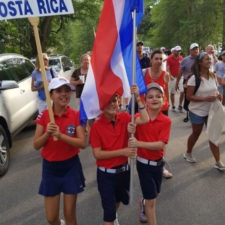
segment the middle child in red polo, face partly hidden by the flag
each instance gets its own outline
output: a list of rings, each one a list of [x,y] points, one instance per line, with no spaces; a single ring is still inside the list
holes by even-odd
[[[140,117],[135,123],[148,122],[148,114],[136,85],[132,86],[131,93],[134,93],[140,111]],[[136,155],[135,148],[128,148],[127,126],[131,116],[126,112],[118,113],[118,110],[119,96],[115,94],[100,118],[92,124],[90,132],[90,143],[98,167],[97,182],[104,210],[103,225],[114,225],[120,202],[129,202],[128,157]]]

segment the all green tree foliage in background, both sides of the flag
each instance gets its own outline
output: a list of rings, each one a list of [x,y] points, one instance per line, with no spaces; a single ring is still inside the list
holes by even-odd
[[[43,51],[62,53],[79,63],[92,49],[103,0],[73,0],[73,15],[40,18]],[[201,47],[223,42],[225,46],[225,0],[144,0],[145,16],[138,39],[152,48],[192,42]],[[36,56],[33,31],[27,19],[0,21],[0,52]],[[107,35],[107,34],[106,34]]]

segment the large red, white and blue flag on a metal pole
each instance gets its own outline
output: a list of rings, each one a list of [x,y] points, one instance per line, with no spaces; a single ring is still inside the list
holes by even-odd
[[[132,11],[137,26],[143,17],[143,0],[105,0],[96,32],[91,63],[81,95],[80,120],[96,118],[111,97],[121,89],[130,97],[132,84]],[[136,84],[146,91],[141,67],[136,59]]]

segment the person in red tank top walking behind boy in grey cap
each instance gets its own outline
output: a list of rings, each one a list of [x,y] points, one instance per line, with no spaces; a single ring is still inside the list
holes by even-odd
[[[168,116],[169,110],[169,74],[162,70],[162,51],[154,50],[151,54],[151,63],[152,67],[143,70],[144,79],[146,86],[150,83],[158,83],[163,87],[165,96],[164,96],[164,104],[161,108],[162,113]],[[163,169],[163,176],[165,178],[171,178],[173,176],[166,168]]]

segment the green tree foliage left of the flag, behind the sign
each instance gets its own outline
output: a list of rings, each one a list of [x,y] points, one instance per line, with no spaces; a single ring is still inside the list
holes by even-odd
[[[40,18],[43,52],[67,54],[75,60],[82,52],[91,49],[93,28],[99,18],[102,0],[73,0],[73,4],[73,15]],[[0,30],[0,52],[36,56],[33,30],[27,19],[0,21]]]

